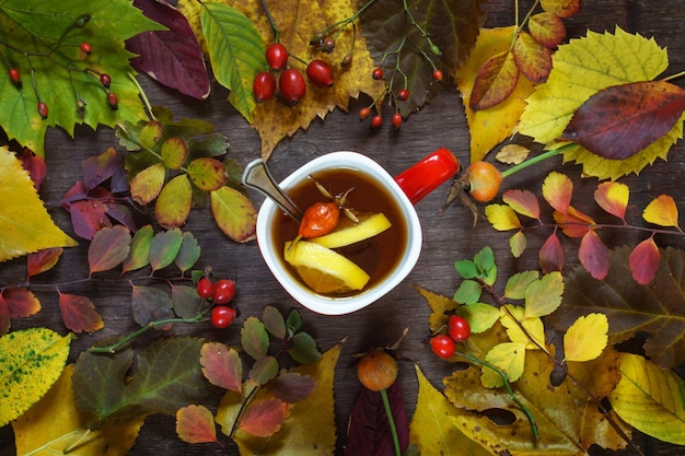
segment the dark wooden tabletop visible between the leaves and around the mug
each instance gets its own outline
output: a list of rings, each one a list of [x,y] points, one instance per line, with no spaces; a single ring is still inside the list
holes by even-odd
[[[531,1],[523,1],[522,10],[527,9]],[[618,25],[627,32],[654,37],[660,46],[669,50],[671,66],[667,73],[685,70],[685,1],[683,0],[599,0],[583,2],[580,14],[566,21],[571,37],[583,36],[588,30],[603,33],[614,32]],[[492,0],[486,7],[486,26],[507,26],[513,22],[512,0]],[[237,159],[241,164],[259,156],[259,139],[247,122],[228,104],[228,92],[214,84],[209,100],[197,102],[175,91],[164,89],[146,75],[139,78],[152,104],[163,104],[172,108],[176,118],[195,117],[212,122],[230,141],[229,155]],[[675,81],[683,86],[683,79]],[[274,175],[282,178],[304,162],[330,151],[352,150],[362,152],[380,162],[391,174],[396,175],[428,152],[437,148],[448,148],[462,161],[468,163],[468,130],[461,98],[451,83],[444,84],[444,91],[419,113],[411,115],[399,130],[394,130],[386,122],[379,130],[371,130],[368,122],[360,122],[357,112],[370,101],[362,97],[352,101],[349,114],[339,109],[329,114],[325,121],[312,122],[306,131],[299,131],[290,139],[283,140],[276,148],[270,165]],[[42,190],[44,201],[55,203],[81,177],[81,163],[88,156],[98,154],[108,147],[119,149],[114,132],[101,128],[96,132],[88,128],[78,128],[76,139],[70,139],[61,130],[48,132],[47,165],[48,175]],[[637,214],[646,201],[665,192],[676,198],[681,210],[685,210],[685,145],[678,142],[669,154],[667,162],[657,161],[646,168],[639,177],[629,176],[622,182],[630,186],[631,209]],[[506,188],[530,188],[537,190],[542,179],[550,169],[561,171],[571,176],[576,184],[574,200],[591,201],[596,179],[580,179],[580,167],[562,165],[560,159],[548,161],[534,169],[516,174],[508,179]],[[423,372],[440,386],[441,379],[449,372],[449,365],[431,355],[426,344],[428,336],[427,317],[429,308],[425,300],[413,289],[413,284],[437,293],[452,295],[457,277],[454,261],[472,258],[481,247],[489,245],[496,253],[500,267],[500,277],[515,271],[536,268],[535,247],[543,239],[532,237],[529,253],[524,258],[514,260],[508,252],[508,235],[496,233],[487,223],[479,223],[474,230],[472,214],[458,204],[439,212],[443,204],[448,186],[442,186],[417,204],[423,225],[423,248],[418,265],[409,277],[392,293],[373,305],[345,316],[324,316],[309,312],[299,306],[276,282],[259,256],[255,242],[236,244],[223,236],[217,229],[207,211],[194,211],[184,230],[190,231],[199,239],[202,247],[201,265],[211,265],[218,274],[233,278],[237,282],[235,300],[242,316],[237,324],[229,330],[212,329],[206,325],[178,326],[174,334],[191,334],[210,340],[235,343],[237,329],[242,320],[251,315],[260,315],[265,305],[275,305],[281,309],[299,308],[303,316],[305,329],[311,332],[318,347],[323,350],[347,338],[335,377],[335,411],[337,416],[338,448],[346,442],[345,431],[350,408],[357,398],[360,385],[355,373],[352,354],[370,348],[385,346],[396,340],[404,328],[409,328],[403,343],[403,355],[419,361]],[[256,204],[263,198],[251,192]],[[635,208],[634,206],[635,204]],[[51,215],[56,222],[71,233],[68,214],[54,208]],[[606,238],[611,246],[624,243],[636,243],[631,235]],[[673,246],[684,248],[681,239],[670,238]],[[567,257],[576,261],[578,243],[567,242]],[[69,249],[61,259],[61,265],[49,272],[45,280],[59,282],[88,276],[88,265],[83,260],[88,243]],[[570,269],[569,264],[566,271]],[[0,265],[0,283],[21,280],[23,261],[10,261]],[[130,312],[130,288],[126,283],[89,282],[73,290],[74,293],[88,294],[96,304],[104,318],[105,328],[93,335],[81,335],[72,342],[70,361],[86,349],[93,341],[109,335],[127,334],[136,329]],[[43,309],[31,318],[15,319],[13,329],[33,326],[47,326],[60,334],[61,324],[55,293],[38,292]],[[159,334],[137,340],[144,343]],[[400,364],[400,381],[405,393],[408,413],[416,402],[417,382],[413,363]],[[208,398],[208,404],[216,404],[216,397]],[[213,402],[212,402],[213,401]],[[642,445],[648,455],[683,454],[682,447],[663,444],[640,436],[636,442]],[[595,451],[596,449],[596,451]],[[593,448],[593,454],[609,454]],[[12,432],[10,426],[0,430],[0,456],[14,455]],[[184,444],[174,430],[173,417],[152,416],[147,419],[138,441],[130,455],[237,455],[235,447],[228,451],[216,445]],[[338,449],[337,454],[341,454]],[[614,454],[614,453],[611,453]],[[634,454],[625,451],[620,454]],[[432,456],[432,455],[427,455]]]

